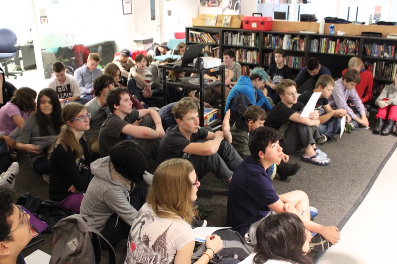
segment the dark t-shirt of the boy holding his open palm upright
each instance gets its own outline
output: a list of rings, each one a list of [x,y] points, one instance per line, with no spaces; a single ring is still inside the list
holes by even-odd
[[[188,159],[191,153],[183,152],[190,143],[198,142],[205,139],[208,135],[208,130],[200,127],[197,133],[190,136],[187,140],[184,135],[179,131],[179,126],[171,126],[160,141],[157,152],[157,164],[170,158],[184,158]]]

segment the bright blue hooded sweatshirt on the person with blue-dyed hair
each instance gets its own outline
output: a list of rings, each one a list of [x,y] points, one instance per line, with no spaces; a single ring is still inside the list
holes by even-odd
[[[254,86],[252,86],[250,77],[243,75],[238,79],[237,84],[233,86],[230,91],[226,99],[225,111],[229,109],[230,101],[232,101],[233,97],[239,94],[246,95],[253,105],[265,106],[268,111],[273,108],[270,106],[269,100],[262,94],[261,90],[256,90]]]

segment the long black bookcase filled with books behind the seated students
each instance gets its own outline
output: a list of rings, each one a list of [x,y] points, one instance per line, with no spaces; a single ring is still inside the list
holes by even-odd
[[[189,42],[189,34],[192,31],[219,35],[218,43],[204,44],[210,47],[216,45],[217,52],[214,53],[214,56],[218,58],[222,58],[222,53],[226,49],[234,50],[236,61],[241,64],[242,74],[245,75],[248,75],[254,67],[259,66],[267,69],[270,64],[274,63],[272,52],[275,48],[283,48],[286,51],[286,64],[292,69],[294,75],[305,66],[308,58],[317,57],[322,65],[330,69],[332,77],[340,78],[342,71],[347,68],[350,58],[358,56],[363,60],[367,69],[373,72],[374,95],[379,95],[384,85],[394,80],[394,74],[397,71],[397,42],[395,39],[186,27],[188,44],[193,44],[193,42]],[[239,55],[237,56],[237,54]]]

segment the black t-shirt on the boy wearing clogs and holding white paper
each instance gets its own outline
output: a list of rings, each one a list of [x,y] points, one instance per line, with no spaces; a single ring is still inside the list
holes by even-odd
[[[270,112],[267,112],[265,126],[278,130],[283,123],[289,120],[292,114],[302,111],[304,107],[305,105],[301,102],[296,102],[291,108],[279,102]]]

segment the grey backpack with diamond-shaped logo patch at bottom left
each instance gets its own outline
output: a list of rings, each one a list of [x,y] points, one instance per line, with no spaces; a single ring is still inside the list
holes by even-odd
[[[101,261],[101,241],[108,244],[109,263],[116,263],[116,254],[110,243],[93,226],[88,215],[73,214],[53,227],[50,264],[98,264]]]

